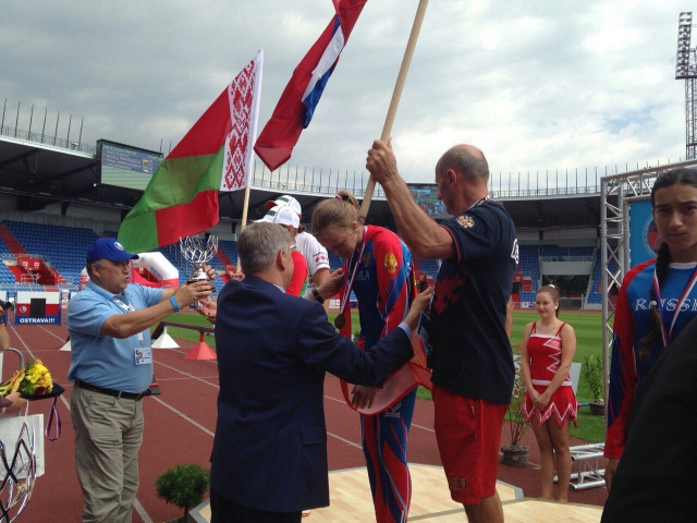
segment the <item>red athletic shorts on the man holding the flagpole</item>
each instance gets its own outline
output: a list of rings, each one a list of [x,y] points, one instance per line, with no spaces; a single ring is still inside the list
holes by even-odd
[[[508,404],[465,398],[433,386],[436,440],[450,496],[479,504],[497,489],[501,426]]]

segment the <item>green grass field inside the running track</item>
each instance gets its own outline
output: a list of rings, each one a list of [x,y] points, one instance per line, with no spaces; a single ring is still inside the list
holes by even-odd
[[[358,335],[358,313],[352,313],[352,325],[355,335]],[[329,320],[333,321],[335,314],[329,313]],[[511,342],[513,344],[519,343],[523,337],[523,328],[526,324],[539,319],[539,316],[535,312],[516,311],[513,316],[513,335]],[[583,363],[586,355],[595,355],[596,357],[602,356],[602,316],[599,312],[566,312],[563,311],[560,319],[570,324],[576,331],[576,354],[574,355],[575,362]],[[191,313],[175,313],[167,317],[168,321],[176,321],[181,324],[210,326],[210,324],[198,314]],[[170,328],[168,330],[170,336],[189,341],[198,341],[198,332],[188,329]],[[213,337],[206,337],[206,342],[216,346],[216,340]],[[430,399],[430,392],[426,389],[421,389],[418,392],[420,398]],[[583,377],[583,370],[580,381],[578,384],[578,390],[576,393],[578,403],[588,403],[592,401],[588,385]],[[584,439],[586,441],[599,442],[604,441],[604,418],[603,416],[594,416],[590,414],[588,406],[580,406],[578,409],[578,427],[571,427],[571,435],[575,438]]]

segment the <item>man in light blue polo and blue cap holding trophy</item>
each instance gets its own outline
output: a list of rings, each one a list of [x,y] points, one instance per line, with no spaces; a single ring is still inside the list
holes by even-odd
[[[206,281],[167,290],[129,284],[130,263],[137,257],[113,238],[97,240],[87,251],[90,281],[68,304],[83,522],[131,522],[144,428],[140,400],[152,378],[150,326],[211,293]]]

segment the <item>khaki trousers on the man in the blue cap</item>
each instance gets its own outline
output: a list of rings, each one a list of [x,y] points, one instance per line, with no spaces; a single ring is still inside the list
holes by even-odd
[[[75,469],[83,490],[83,522],[131,523],[138,490],[143,400],[117,399],[73,387]]]

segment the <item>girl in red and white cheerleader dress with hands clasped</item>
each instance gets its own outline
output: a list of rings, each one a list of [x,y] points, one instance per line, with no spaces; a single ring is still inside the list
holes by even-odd
[[[523,414],[531,422],[540,448],[542,499],[552,499],[554,467],[560,501],[566,501],[571,479],[568,428],[576,425],[578,403],[568,369],[576,352],[574,328],[559,319],[559,290],[545,285],[537,291],[539,321],[525,326],[521,342],[521,370],[527,388]]]

